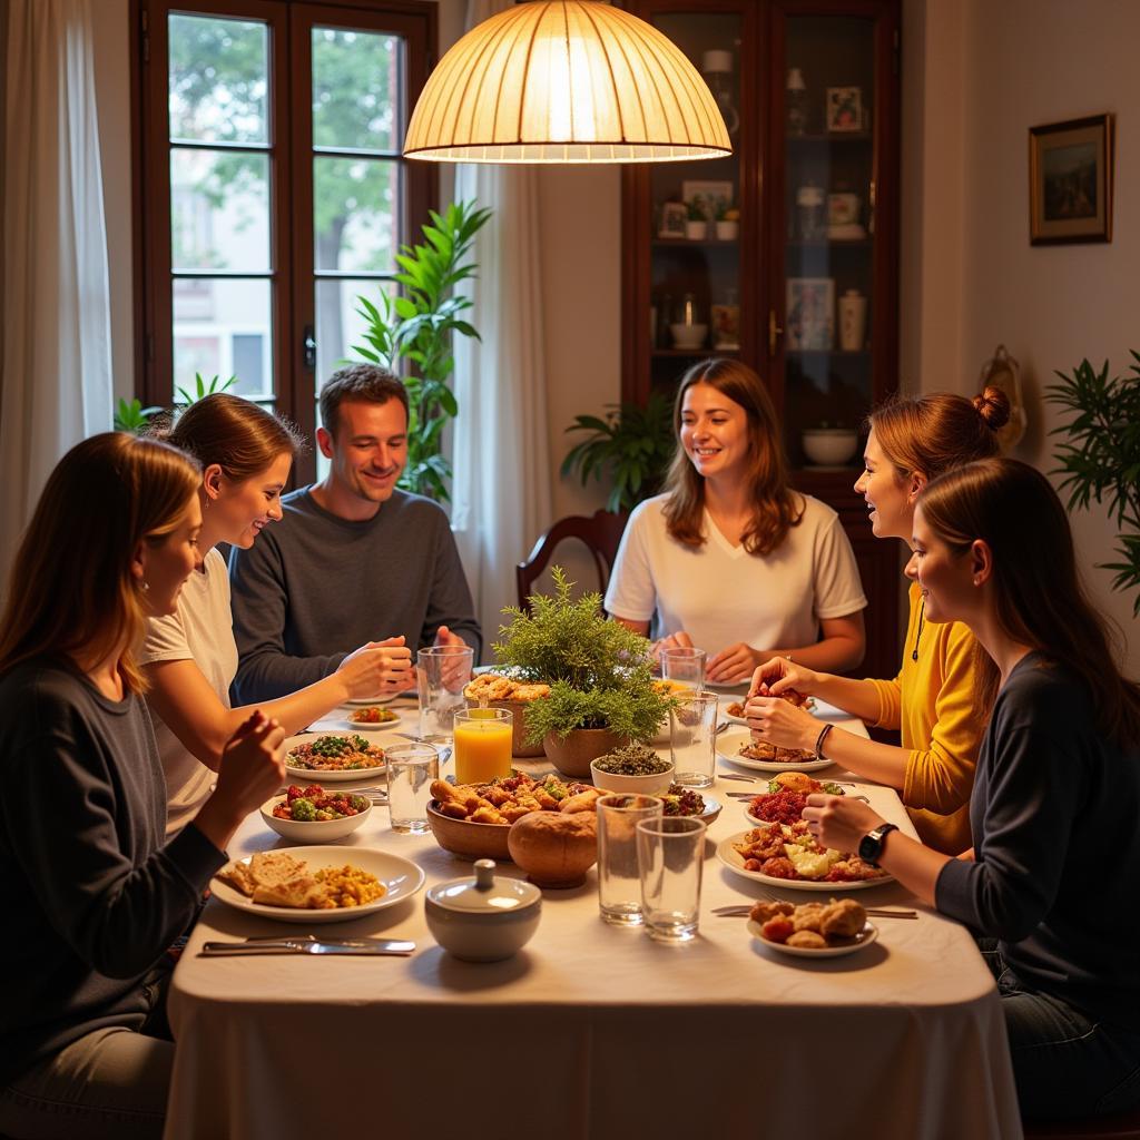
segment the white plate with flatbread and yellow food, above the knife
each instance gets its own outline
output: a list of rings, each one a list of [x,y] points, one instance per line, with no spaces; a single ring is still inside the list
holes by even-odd
[[[214,898],[278,922],[349,922],[415,895],[424,873],[373,847],[291,847],[226,864]]]

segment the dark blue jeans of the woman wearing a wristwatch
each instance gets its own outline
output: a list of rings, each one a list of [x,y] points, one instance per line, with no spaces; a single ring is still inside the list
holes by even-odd
[[[979,938],[978,948],[997,979],[1023,1116],[1102,1116],[1140,1105],[1140,1033],[1097,1023],[1027,988],[996,939]]]

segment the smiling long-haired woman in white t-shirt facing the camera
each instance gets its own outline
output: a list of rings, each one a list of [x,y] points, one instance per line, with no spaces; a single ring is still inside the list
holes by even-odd
[[[863,659],[866,597],[831,507],[792,490],[775,409],[736,360],[694,365],[674,412],[666,494],[629,519],[605,594],[622,625],[708,653],[707,678],[748,681],[771,657],[842,671]]]

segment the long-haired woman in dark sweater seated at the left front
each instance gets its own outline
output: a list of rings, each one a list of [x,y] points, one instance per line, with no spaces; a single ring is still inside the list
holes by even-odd
[[[95,435],[43,490],[0,622],[0,1132],[158,1137],[173,1047],[165,950],[237,824],[282,780],[254,714],[218,790],[164,841],[166,793],[133,659],[198,561],[197,465]]]

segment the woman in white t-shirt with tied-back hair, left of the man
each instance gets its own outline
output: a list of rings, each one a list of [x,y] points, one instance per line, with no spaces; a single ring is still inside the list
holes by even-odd
[[[192,404],[158,434],[202,464],[202,563],[174,613],[147,621],[139,654],[166,775],[166,830],[173,833],[209,797],[226,741],[252,711],[229,703],[237,645],[229,576],[214,546],[250,547],[282,516],[280,492],[301,445],[276,416],[227,393]],[[292,734],[350,698],[398,692],[412,677],[410,651],[402,637],[390,637],[350,653],[323,681],[256,707]]]

